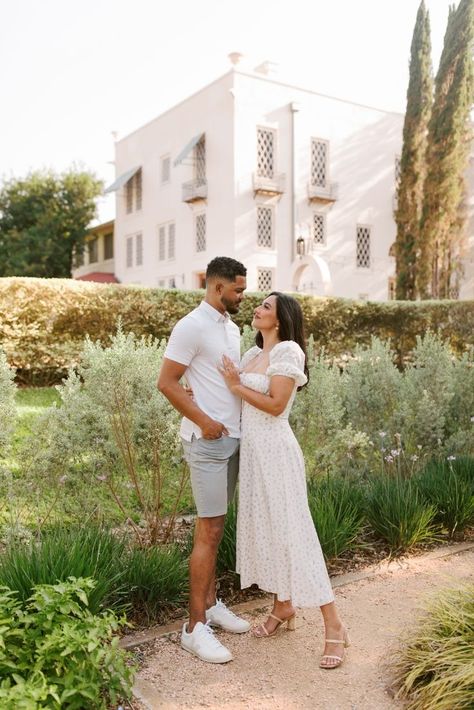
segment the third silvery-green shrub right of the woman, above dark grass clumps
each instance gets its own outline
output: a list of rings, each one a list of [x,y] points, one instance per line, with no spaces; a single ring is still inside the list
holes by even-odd
[[[455,358],[449,345],[432,333],[417,337],[413,362],[402,379],[398,431],[406,453],[418,444],[434,453],[446,436],[455,391]]]

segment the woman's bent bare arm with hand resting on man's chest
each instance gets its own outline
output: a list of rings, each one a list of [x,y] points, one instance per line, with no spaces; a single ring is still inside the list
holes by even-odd
[[[224,355],[222,360],[223,364],[218,369],[233,394],[241,397],[252,407],[256,407],[274,417],[278,417],[285,410],[295,386],[295,381],[292,377],[273,375],[270,378],[270,393],[261,394],[241,384],[239,371],[230,358]]]

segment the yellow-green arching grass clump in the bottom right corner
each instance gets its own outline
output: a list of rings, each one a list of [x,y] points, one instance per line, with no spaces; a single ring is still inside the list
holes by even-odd
[[[448,589],[403,639],[396,657],[399,697],[409,710],[472,708],[474,585]]]

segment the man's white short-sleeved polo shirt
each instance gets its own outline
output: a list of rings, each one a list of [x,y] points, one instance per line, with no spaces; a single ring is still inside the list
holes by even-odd
[[[181,318],[173,328],[164,357],[186,365],[186,379],[194,401],[208,416],[224,424],[229,436],[240,437],[240,398],[227,387],[217,365],[227,355],[238,366],[240,332],[226,313],[206,301]],[[183,417],[181,436],[191,441],[202,437],[201,429]]]

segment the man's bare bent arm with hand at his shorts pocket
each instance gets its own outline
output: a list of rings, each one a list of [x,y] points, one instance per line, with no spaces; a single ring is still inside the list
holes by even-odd
[[[158,389],[183,417],[197,424],[204,439],[219,439],[227,435],[229,432],[225,426],[203,412],[179,384],[186,369],[186,365],[165,357],[158,377]]]

